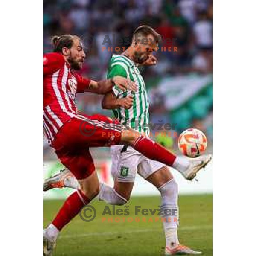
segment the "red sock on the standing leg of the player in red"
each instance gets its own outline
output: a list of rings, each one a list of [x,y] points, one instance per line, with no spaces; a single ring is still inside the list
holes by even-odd
[[[80,211],[80,209],[90,203],[90,199],[80,190],[70,195],[59,210],[52,224],[59,231],[67,225]]]

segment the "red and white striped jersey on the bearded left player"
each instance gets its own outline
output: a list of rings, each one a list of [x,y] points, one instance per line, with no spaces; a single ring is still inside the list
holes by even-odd
[[[76,93],[84,92],[90,79],[79,76],[59,53],[44,55],[44,132],[52,143],[65,122],[77,115]]]

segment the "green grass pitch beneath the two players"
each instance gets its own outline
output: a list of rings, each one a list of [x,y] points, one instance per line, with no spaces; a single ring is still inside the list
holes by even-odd
[[[55,217],[63,201],[44,201],[44,227]],[[102,212],[106,204],[93,201],[97,216],[91,222],[84,222],[79,216],[73,219],[61,232],[57,240],[54,256],[154,256],[164,255],[165,238],[161,221],[148,222],[152,216],[135,216],[134,207],[158,208],[160,197],[132,197],[129,204],[129,215],[112,216],[113,222],[102,221]],[[112,206],[110,206],[112,209]],[[116,209],[124,207],[116,207]],[[179,196],[180,225],[179,240],[192,249],[201,250],[203,255],[212,255],[212,195]],[[128,222],[128,217],[133,218]],[[135,222],[135,217],[140,222]],[[125,218],[123,222],[122,218]],[[131,220],[131,219],[130,219]]]

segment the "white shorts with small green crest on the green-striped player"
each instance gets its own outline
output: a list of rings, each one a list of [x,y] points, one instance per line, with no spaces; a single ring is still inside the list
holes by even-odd
[[[137,172],[146,179],[152,173],[166,166],[163,163],[148,159],[130,146],[121,153],[123,147],[123,145],[111,146],[111,173],[113,178],[120,182],[134,182]]]

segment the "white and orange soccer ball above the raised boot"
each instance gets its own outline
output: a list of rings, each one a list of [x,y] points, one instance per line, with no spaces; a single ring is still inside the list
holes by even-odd
[[[207,148],[207,137],[200,130],[189,128],[180,134],[178,148],[187,157],[198,157]]]

